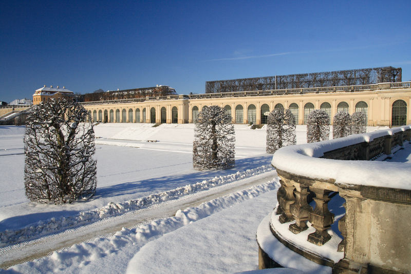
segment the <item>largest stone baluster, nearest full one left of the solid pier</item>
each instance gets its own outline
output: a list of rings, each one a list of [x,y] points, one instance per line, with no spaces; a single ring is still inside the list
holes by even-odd
[[[308,242],[323,245],[331,239],[327,229],[334,222],[334,214],[328,210],[328,202],[331,200],[328,197],[330,190],[310,187],[310,190],[315,193],[315,208],[309,213],[308,221],[315,228],[315,232],[308,235]]]

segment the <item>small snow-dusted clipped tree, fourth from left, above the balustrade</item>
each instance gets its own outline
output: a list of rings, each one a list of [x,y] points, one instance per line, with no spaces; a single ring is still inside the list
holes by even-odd
[[[307,119],[307,143],[328,140],[330,136],[330,118],[324,110],[314,109]]]

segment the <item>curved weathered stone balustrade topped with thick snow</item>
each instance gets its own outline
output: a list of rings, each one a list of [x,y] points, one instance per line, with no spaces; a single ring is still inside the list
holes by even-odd
[[[405,142],[411,143],[410,126],[278,150],[272,165],[281,187],[271,218],[289,223],[294,234],[312,226],[307,241],[323,246],[333,234],[328,233],[334,223],[328,203],[339,194],[345,215],[338,223],[342,241],[334,252],[344,253],[333,261],[300,248],[282,239],[271,221],[272,234],[293,251],[332,267],[333,273],[411,273],[411,165],[368,161],[389,158]],[[278,265],[261,243],[259,248],[260,268]]]

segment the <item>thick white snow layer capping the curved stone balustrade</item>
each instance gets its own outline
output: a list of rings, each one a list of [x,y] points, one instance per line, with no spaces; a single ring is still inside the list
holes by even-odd
[[[345,138],[283,147],[273,155],[275,168],[316,180],[335,180],[336,184],[367,185],[411,190],[411,164],[378,161],[347,161],[319,158],[324,152],[368,142],[380,135],[406,130],[409,126],[355,134]],[[389,172],[388,172],[389,170]]]

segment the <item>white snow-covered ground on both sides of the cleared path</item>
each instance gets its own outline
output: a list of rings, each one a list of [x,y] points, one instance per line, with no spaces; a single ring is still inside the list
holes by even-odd
[[[96,196],[88,202],[61,206],[27,201],[23,183],[24,127],[0,127],[0,232],[30,226],[35,228],[40,220],[66,220],[85,212],[100,212],[104,208],[110,208],[108,211],[114,212],[115,216],[121,213],[121,207],[130,204],[127,201],[141,201],[153,193],[175,193],[176,189],[195,183],[208,187],[213,182],[235,182],[271,169],[272,157],[265,153],[265,128],[251,130],[247,125],[236,125],[236,167],[200,172],[192,168],[191,162],[193,125],[151,126],[96,126]],[[376,129],[368,128],[368,131]],[[305,143],[305,132],[305,126],[297,126],[297,143]],[[55,251],[50,257],[14,266],[9,271],[113,273],[127,270],[130,273],[154,273],[201,272],[201,269],[202,272],[255,270],[255,231],[259,221],[276,204],[276,180],[273,178],[271,182],[249,190],[178,211],[175,217],[123,229],[111,237]],[[85,215],[90,216],[88,213]],[[102,215],[104,217],[104,213]]]

